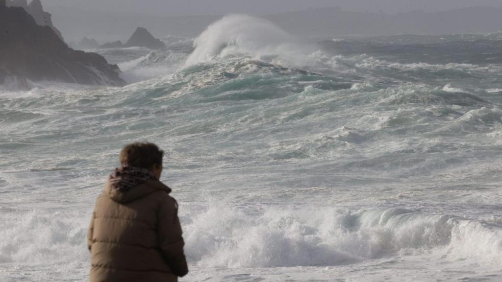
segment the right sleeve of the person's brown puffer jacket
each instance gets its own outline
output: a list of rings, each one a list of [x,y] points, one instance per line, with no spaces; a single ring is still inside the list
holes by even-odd
[[[169,196],[162,201],[159,209],[158,228],[160,247],[169,267],[177,276],[185,276],[188,265],[183,251],[185,242],[178,218],[178,204]]]

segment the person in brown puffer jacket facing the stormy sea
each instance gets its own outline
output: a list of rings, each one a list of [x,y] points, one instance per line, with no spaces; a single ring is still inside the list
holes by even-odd
[[[159,181],[163,157],[152,143],[122,149],[88,230],[91,282],[172,282],[188,273],[178,204]]]

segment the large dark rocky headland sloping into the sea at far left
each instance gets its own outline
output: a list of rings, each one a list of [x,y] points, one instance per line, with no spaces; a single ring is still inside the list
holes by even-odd
[[[91,85],[123,85],[120,70],[94,53],[69,48],[23,8],[0,7],[0,70],[5,77]]]

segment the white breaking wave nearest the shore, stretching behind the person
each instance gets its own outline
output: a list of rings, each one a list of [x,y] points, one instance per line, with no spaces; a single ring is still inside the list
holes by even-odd
[[[267,209],[249,215],[217,205],[181,218],[187,257],[201,267],[333,266],[430,252],[449,261],[502,262],[499,224],[405,209]],[[3,220],[17,223],[0,231],[6,238],[0,242],[0,263],[89,257],[87,221],[79,213],[33,211]]]

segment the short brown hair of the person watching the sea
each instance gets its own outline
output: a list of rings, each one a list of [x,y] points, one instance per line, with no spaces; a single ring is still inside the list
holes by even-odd
[[[120,152],[120,164],[142,169],[151,169],[154,165],[162,166],[164,151],[153,143],[129,144]]]

